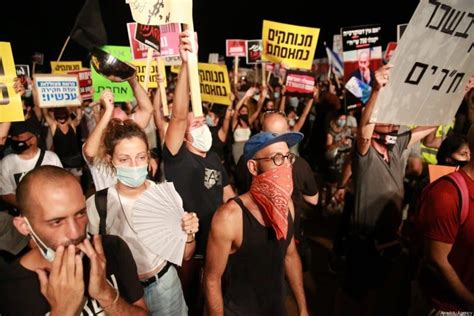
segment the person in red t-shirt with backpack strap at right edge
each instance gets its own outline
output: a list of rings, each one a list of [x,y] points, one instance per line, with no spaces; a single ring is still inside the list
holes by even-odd
[[[467,140],[473,152],[474,125]],[[429,309],[441,314],[474,310],[474,155],[458,172],[469,191],[468,212],[462,212],[460,186],[442,178],[425,193],[419,213],[425,256],[418,281]]]

